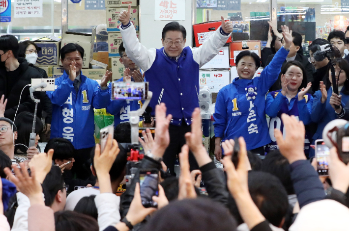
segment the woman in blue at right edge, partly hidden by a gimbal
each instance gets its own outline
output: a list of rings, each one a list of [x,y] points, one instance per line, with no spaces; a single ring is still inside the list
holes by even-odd
[[[329,71],[329,77],[325,82],[320,82],[320,90],[316,91],[314,94],[311,118],[313,122],[318,123],[318,129],[313,136],[313,144],[315,143],[315,140],[322,139],[323,128],[330,121],[338,118],[342,108],[345,107],[349,100],[349,63],[347,60],[342,58],[336,58],[333,62],[336,64],[335,73],[339,96],[333,93],[331,71]],[[335,108],[335,104],[339,105],[340,108]],[[315,152],[311,149],[309,157],[313,157],[314,155]]]

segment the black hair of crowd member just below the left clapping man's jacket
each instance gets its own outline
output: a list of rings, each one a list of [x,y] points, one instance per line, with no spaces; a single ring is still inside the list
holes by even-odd
[[[53,138],[47,142],[45,147],[45,153],[47,153],[50,149],[53,149],[55,152],[53,153],[52,160],[56,159],[70,159],[74,156],[74,146],[73,144],[64,138]]]

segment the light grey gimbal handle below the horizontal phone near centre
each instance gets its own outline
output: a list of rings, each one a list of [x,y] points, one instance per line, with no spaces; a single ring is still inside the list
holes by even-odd
[[[140,116],[143,115],[145,112],[146,107],[150,103],[151,97],[153,96],[153,93],[151,91],[148,91],[148,99],[145,100],[145,103],[143,106],[138,109],[137,111],[130,111],[128,114],[130,116],[130,125],[131,125],[131,143],[132,144],[139,144],[138,137],[139,137],[139,126],[138,123],[140,121]]]

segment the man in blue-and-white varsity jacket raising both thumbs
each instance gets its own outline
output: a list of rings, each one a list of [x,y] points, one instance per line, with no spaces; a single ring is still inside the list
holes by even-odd
[[[174,174],[174,162],[181,147],[186,143],[185,133],[190,132],[191,116],[199,107],[199,68],[210,61],[231,36],[233,24],[225,22],[203,43],[192,49],[185,47],[186,29],[178,22],[170,22],[162,30],[161,49],[147,50],[136,36],[130,22],[131,6],[119,14],[120,33],[127,56],[145,72],[149,91],[153,93],[149,103],[154,116],[156,104],[165,103],[167,114],[173,116],[170,123],[170,140],[163,160]],[[161,70],[161,71],[160,71]],[[193,154],[189,154],[190,169],[199,166]]]

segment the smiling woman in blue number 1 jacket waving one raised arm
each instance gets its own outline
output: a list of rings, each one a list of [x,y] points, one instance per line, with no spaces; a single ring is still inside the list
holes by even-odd
[[[247,150],[258,154],[264,154],[263,146],[270,143],[264,110],[265,94],[277,80],[292,44],[292,31],[287,26],[282,26],[282,31],[285,45],[264,68],[261,77],[253,78],[261,66],[256,53],[242,51],[235,57],[239,77],[218,92],[213,114],[214,153],[218,160],[222,155],[221,140],[242,136]]]

